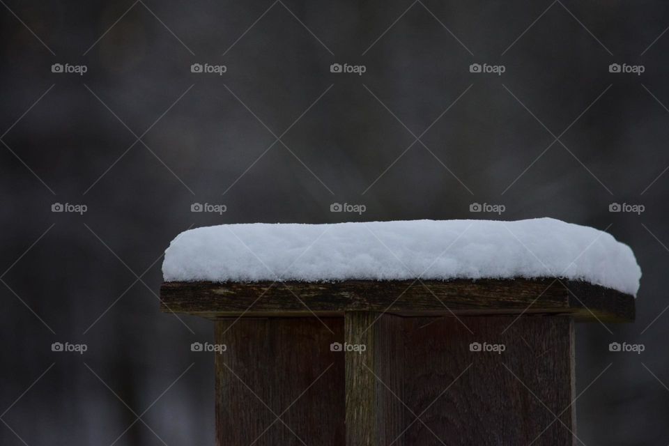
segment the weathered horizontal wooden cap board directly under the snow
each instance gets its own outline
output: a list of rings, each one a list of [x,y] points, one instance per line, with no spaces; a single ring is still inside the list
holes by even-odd
[[[457,279],[447,282],[166,282],[164,312],[226,316],[343,316],[347,311],[400,316],[568,314],[576,321],[633,321],[634,298],[564,279]]]

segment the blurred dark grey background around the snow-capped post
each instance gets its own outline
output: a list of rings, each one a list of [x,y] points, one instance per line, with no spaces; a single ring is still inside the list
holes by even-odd
[[[213,359],[190,351],[213,325],[158,312],[161,254],[180,231],[498,217],[473,202],[608,228],[633,248],[636,323],[577,327],[577,394],[613,363],[576,401],[578,435],[669,443],[666,2],[0,3],[2,445],[213,444]]]

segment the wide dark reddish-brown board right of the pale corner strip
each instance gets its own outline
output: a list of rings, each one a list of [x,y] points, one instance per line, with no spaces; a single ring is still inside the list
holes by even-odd
[[[420,415],[406,413],[406,446],[575,444],[573,322],[514,319],[406,320],[405,403]]]

